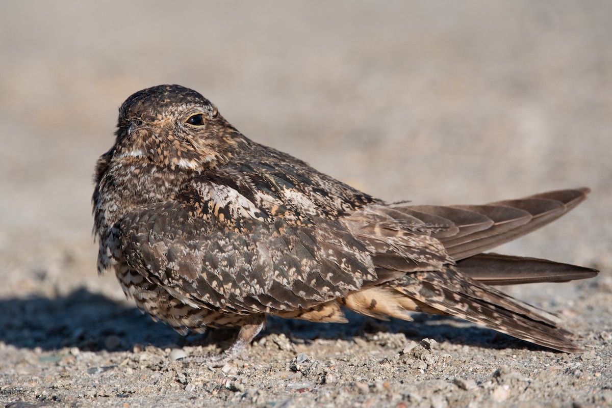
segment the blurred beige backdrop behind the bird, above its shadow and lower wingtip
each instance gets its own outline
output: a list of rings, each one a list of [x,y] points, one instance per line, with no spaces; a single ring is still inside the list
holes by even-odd
[[[133,92],[191,87],[247,137],[383,199],[590,186],[506,252],[612,266],[612,2],[4,1],[0,297],[98,279],[92,172]]]

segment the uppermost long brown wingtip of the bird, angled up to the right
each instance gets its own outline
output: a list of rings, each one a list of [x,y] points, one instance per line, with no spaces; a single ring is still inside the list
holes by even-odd
[[[373,248],[377,268],[431,271],[548,224],[577,206],[588,192],[586,188],[552,191],[487,205],[375,203],[345,217],[343,222],[357,238]],[[506,259],[496,258],[496,261],[499,265]],[[485,261],[494,265],[485,257],[480,264]],[[466,270],[468,266],[471,264],[465,264]]]

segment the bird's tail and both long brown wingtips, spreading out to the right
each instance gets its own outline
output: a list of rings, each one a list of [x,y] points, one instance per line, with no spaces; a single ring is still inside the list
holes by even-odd
[[[588,193],[588,188],[580,188],[487,205],[392,205],[359,213],[349,225],[375,248],[373,259],[385,282],[351,293],[341,302],[376,318],[410,319],[409,311],[457,316],[551,349],[580,352],[575,336],[559,327],[553,315],[489,285],[567,282],[594,277],[598,271],[482,252],[558,219]],[[414,235],[420,241],[411,238]],[[443,249],[428,241],[430,237]],[[406,248],[419,257],[408,260]],[[457,264],[442,264],[444,257]]]

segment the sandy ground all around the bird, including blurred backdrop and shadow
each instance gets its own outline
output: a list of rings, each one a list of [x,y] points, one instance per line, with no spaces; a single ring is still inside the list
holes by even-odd
[[[612,406],[612,2],[2,2],[0,406]],[[132,92],[179,83],[252,139],[387,200],[590,186],[499,251],[600,268],[507,288],[584,354],[452,318],[272,319],[218,351],[97,277],[91,173]],[[175,355],[177,351],[173,352]],[[22,401],[22,402],[18,402]]]

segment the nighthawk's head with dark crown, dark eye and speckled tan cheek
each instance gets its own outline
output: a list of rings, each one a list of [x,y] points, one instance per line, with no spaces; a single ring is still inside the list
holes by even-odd
[[[134,93],[119,108],[113,159],[202,170],[226,161],[237,135],[200,93],[160,85]]]

